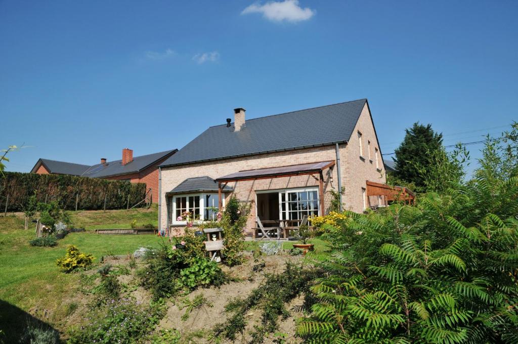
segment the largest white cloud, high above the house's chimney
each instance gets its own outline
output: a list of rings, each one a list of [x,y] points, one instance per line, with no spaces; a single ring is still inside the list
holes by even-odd
[[[296,23],[310,19],[316,14],[316,11],[309,7],[300,7],[298,0],[284,0],[282,2],[268,2],[264,5],[252,4],[245,8],[241,15],[249,13],[263,13],[263,17],[271,21],[281,22],[285,20]]]

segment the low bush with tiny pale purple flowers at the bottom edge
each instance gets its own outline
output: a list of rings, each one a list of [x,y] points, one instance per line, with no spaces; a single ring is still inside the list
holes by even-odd
[[[135,343],[163,317],[161,306],[138,305],[134,300],[111,300],[107,307],[89,314],[87,323],[70,331],[70,344]]]

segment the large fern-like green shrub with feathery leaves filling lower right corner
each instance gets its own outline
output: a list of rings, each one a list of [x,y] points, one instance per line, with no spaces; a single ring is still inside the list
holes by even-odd
[[[518,178],[347,213],[297,333],[313,343],[518,342]]]

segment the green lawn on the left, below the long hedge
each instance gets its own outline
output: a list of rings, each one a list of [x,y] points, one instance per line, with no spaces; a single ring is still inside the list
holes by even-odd
[[[108,221],[115,222],[103,228],[129,228],[133,219],[141,224],[150,223],[152,218],[156,222],[157,218],[156,208],[71,215],[73,222],[80,218],[90,230]],[[70,304],[80,297],[80,275],[61,273],[56,266],[56,260],[65,255],[68,245],[93,254],[95,262],[99,262],[103,255],[132,253],[139,246],[157,246],[162,240],[154,235],[98,235],[87,231],[67,235],[56,247],[33,247],[28,242],[34,238],[34,226],[31,224],[25,231],[23,223],[21,215],[0,218],[0,302],[6,306],[0,307],[0,329],[7,335],[13,328],[24,325],[20,319],[23,312],[36,308],[43,312],[50,310],[48,321],[59,324]],[[13,316],[13,309],[20,309],[19,317]]]

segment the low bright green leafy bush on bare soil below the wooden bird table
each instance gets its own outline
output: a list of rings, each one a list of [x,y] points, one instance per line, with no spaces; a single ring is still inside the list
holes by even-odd
[[[224,283],[224,274],[218,263],[207,258],[198,258],[191,261],[189,267],[180,270],[177,283],[179,288],[188,289],[195,289],[197,286],[220,286]]]

